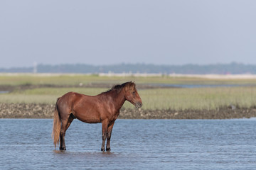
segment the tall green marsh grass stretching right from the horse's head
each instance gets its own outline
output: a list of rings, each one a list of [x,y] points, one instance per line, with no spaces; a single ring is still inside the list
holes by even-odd
[[[230,105],[249,108],[256,105],[255,87],[152,89],[139,91],[143,109],[206,109],[213,110]],[[125,108],[130,106],[125,103]]]

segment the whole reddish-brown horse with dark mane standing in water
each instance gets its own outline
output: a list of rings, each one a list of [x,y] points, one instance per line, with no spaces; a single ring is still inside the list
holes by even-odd
[[[132,81],[113,86],[109,91],[97,96],[68,92],[58,98],[55,104],[52,132],[55,147],[60,141],[60,150],[66,149],[65,132],[77,118],[85,123],[102,123],[101,150],[105,151],[107,138],[106,150],[110,151],[112,128],[124,101],[129,101],[136,108],[142,107],[142,99]]]

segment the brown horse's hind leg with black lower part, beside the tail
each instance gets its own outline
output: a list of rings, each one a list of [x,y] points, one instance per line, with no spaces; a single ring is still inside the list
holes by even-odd
[[[74,116],[71,113],[70,116],[61,121],[61,128],[60,128],[60,150],[66,150],[65,147],[65,132],[68,130],[68,127],[74,120]]]

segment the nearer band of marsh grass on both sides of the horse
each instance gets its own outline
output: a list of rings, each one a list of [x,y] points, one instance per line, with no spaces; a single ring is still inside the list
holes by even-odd
[[[103,88],[39,88],[0,94],[1,103],[48,103],[68,91],[97,95]],[[139,90],[144,110],[161,109],[207,109],[213,110],[230,105],[250,108],[256,106],[256,87],[218,87],[195,89],[144,89]],[[124,108],[134,108],[125,102]]]

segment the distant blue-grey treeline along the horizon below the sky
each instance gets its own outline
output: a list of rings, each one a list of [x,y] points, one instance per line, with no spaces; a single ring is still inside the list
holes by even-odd
[[[113,64],[95,66],[90,64],[38,64],[36,67],[16,67],[1,69],[0,72],[38,72],[38,73],[161,73],[161,74],[256,74],[253,64],[185,64],[185,65],[155,65],[155,64]]]

